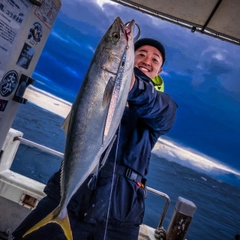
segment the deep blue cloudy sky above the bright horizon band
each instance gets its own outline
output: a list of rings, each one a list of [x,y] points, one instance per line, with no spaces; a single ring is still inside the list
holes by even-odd
[[[166,48],[161,76],[179,107],[174,127],[162,138],[240,171],[240,46],[112,1],[62,4],[33,74],[36,87],[73,102],[107,28],[117,16],[134,19],[140,37]]]

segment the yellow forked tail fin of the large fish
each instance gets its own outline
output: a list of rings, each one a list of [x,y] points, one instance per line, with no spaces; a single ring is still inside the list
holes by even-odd
[[[55,208],[51,213],[49,213],[45,218],[43,218],[41,221],[39,221],[37,224],[35,224],[32,228],[30,228],[24,235],[23,238],[26,237],[28,234],[38,230],[39,228],[47,225],[48,223],[56,223],[58,224],[63,232],[64,235],[66,236],[67,240],[72,240],[72,230],[70,227],[70,222],[67,214],[67,209],[66,213],[62,214],[62,216],[59,215],[60,213],[60,206]]]

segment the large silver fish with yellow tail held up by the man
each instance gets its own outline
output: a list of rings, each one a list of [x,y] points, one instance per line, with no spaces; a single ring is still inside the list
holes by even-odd
[[[117,17],[100,41],[63,124],[67,135],[60,204],[23,237],[54,222],[72,239],[67,205],[111,143],[126,106],[134,66],[134,25],[134,20],[125,25]]]

